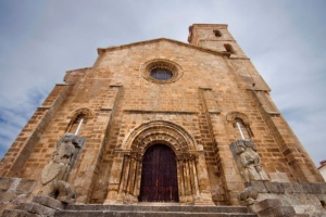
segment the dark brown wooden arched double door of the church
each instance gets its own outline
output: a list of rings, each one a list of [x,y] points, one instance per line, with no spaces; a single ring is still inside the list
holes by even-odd
[[[143,156],[139,202],[178,202],[176,156],[164,144],[150,146]]]

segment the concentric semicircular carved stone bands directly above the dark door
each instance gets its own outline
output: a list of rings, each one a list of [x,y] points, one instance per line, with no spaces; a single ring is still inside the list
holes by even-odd
[[[122,148],[143,154],[154,143],[168,145],[177,155],[197,150],[196,141],[184,128],[164,120],[148,122],[135,128],[126,137]]]

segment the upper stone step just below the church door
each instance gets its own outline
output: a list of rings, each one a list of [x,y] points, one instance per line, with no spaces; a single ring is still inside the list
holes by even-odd
[[[180,213],[242,213],[252,214],[247,206],[191,206],[191,205],[67,205],[65,210],[97,210],[97,212],[180,212]]]

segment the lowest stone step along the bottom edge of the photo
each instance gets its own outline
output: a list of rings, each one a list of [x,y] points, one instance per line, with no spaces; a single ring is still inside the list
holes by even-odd
[[[190,213],[190,212],[118,212],[118,210],[60,210],[55,217],[258,217],[250,213]]]

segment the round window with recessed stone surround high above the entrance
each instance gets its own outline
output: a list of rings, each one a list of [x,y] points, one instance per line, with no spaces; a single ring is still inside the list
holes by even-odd
[[[141,75],[147,80],[168,84],[178,80],[181,77],[181,67],[167,60],[153,60],[147,62],[140,68]]]

